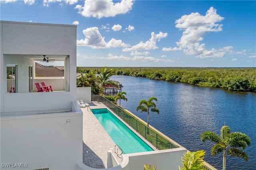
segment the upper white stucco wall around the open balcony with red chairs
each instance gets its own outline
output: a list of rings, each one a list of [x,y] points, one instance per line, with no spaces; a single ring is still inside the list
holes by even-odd
[[[67,103],[75,101],[76,26],[6,21],[1,21],[0,24],[1,113],[30,111],[31,107],[34,109],[35,106],[37,110],[65,109]],[[65,87],[68,91],[54,95],[28,93],[28,65],[33,63],[26,55],[69,56],[68,65],[65,66],[66,73],[69,73],[65,75],[68,82]],[[18,64],[18,93],[10,94],[12,96],[6,95],[6,64]],[[71,107],[70,104],[68,107]]]

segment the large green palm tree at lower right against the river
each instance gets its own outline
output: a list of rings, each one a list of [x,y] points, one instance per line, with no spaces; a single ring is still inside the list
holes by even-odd
[[[226,150],[227,154],[230,156],[238,156],[248,161],[248,155],[246,152],[239,148],[246,148],[246,146],[251,145],[251,139],[244,133],[232,132],[230,133],[230,128],[224,125],[220,130],[220,136],[214,132],[203,132],[201,134],[201,140],[204,142],[210,140],[216,143],[212,146],[211,155],[216,156],[217,154],[223,152],[223,170],[226,169]]]

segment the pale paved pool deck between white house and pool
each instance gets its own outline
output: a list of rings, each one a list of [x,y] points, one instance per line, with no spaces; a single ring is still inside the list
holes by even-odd
[[[107,108],[104,104],[89,103],[91,109]],[[83,163],[92,168],[107,168],[107,151],[112,150],[119,163],[122,159],[115,154],[115,143],[100,125],[92,111],[83,111]],[[88,109],[88,110],[87,110]]]

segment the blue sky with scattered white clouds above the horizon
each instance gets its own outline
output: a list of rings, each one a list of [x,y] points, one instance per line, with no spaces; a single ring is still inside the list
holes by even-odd
[[[256,1],[0,0],[0,19],[77,25],[79,67],[256,67]]]

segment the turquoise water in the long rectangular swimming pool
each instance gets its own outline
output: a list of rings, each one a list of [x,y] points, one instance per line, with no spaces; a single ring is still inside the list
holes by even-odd
[[[92,109],[92,113],[106,132],[108,132],[115,144],[120,146],[126,154],[153,150],[108,109]]]

